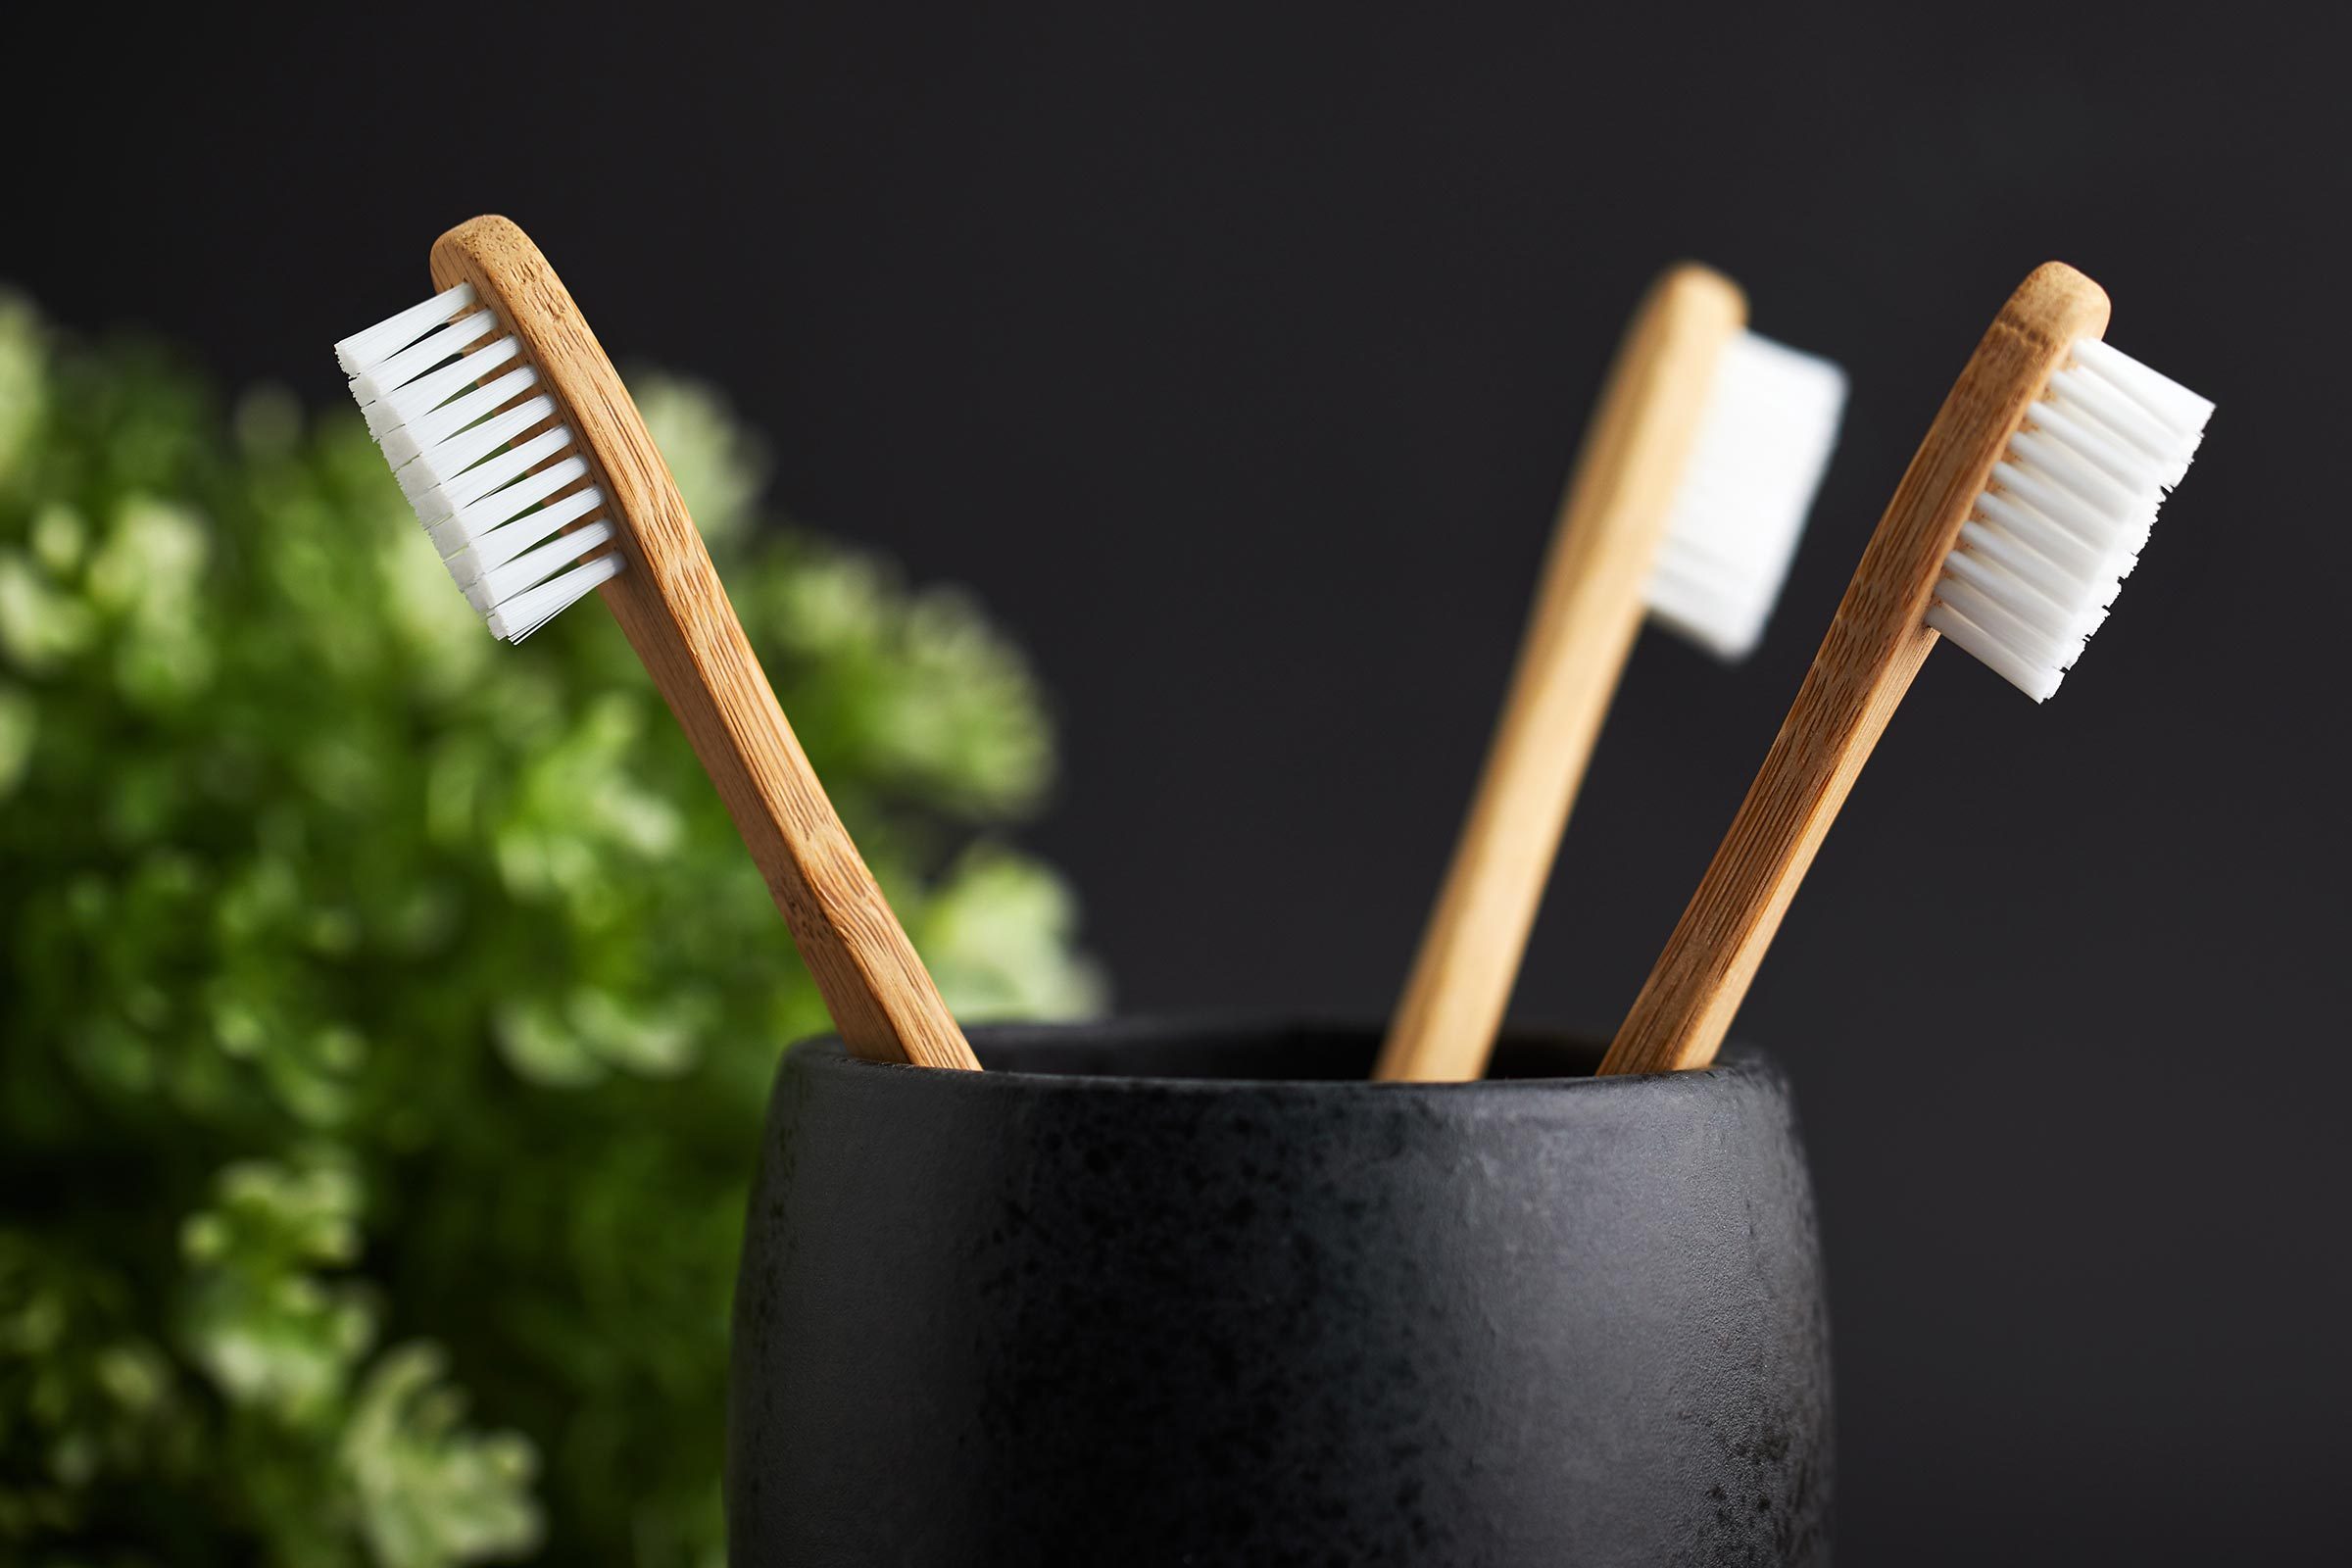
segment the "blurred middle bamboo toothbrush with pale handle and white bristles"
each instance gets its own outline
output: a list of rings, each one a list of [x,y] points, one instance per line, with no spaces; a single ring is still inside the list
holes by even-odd
[[[1378,1079],[1486,1070],[1644,609],[1719,658],[1743,658],[1764,632],[1846,378],[1745,327],[1729,277],[1677,266],[1625,329]]]

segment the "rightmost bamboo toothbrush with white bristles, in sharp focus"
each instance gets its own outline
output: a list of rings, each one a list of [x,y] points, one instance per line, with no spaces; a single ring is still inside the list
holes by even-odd
[[[1863,550],[1731,832],[1602,1072],[1705,1067],[1797,882],[1940,637],[2037,703],[2138,562],[2213,404],[2110,348],[2107,296],[2027,277],[1985,331]]]

